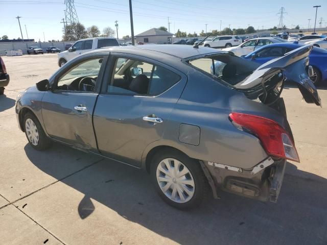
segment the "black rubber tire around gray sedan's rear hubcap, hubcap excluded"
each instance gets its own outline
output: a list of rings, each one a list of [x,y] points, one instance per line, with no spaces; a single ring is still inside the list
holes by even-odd
[[[174,158],[184,164],[191,172],[191,175],[194,180],[194,194],[193,197],[185,203],[177,203],[169,199],[164,192],[159,187],[157,181],[157,166],[158,164],[166,159],[166,158]],[[203,200],[206,199],[209,186],[206,177],[203,174],[202,168],[200,163],[192,159],[185,154],[173,150],[167,149],[157,152],[154,157],[152,158],[151,167],[150,167],[150,175],[152,182],[155,186],[156,191],[158,192],[159,196],[170,206],[177,208],[177,209],[191,209],[199,206]]]

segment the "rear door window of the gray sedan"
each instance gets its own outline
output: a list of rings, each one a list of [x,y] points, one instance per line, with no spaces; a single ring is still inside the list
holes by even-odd
[[[158,95],[180,80],[180,76],[162,66],[144,61],[117,58],[114,74],[107,84],[108,93]]]

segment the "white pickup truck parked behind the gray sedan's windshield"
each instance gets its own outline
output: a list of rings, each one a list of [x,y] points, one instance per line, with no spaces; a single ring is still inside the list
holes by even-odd
[[[61,67],[76,56],[101,47],[119,46],[113,37],[93,37],[76,41],[67,51],[58,53],[58,65]]]

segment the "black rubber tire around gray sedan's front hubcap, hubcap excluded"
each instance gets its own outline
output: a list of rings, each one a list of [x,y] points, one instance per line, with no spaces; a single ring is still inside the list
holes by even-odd
[[[28,137],[28,134],[27,134],[27,131],[26,131],[26,120],[27,119],[31,119],[35,126],[36,126],[36,129],[37,129],[37,133],[38,133],[38,136],[39,136],[39,139],[38,139],[38,142],[36,145],[34,145],[29,137]],[[29,141],[30,145],[35,149],[35,150],[38,150],[38,151],[43,151],[43,150],[46,150],[48,148],[50,148],[50,146],[52,145],[52,141],[51,139],[46,136],[46,134],[44,133],[44,130],[39,122],[39,120],[36,118],[36,116],[31,113],[31,112],[28,112],[24,115],[24,131],[25,131],[25,135],[26,135],[26,138],[27,140]]]

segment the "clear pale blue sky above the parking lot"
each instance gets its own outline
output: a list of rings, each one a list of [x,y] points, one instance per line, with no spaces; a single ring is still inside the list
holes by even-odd
[[[50,3],[55,4],[50,4]],[[262,26],[271,28],[278,25],[278,13],[281,7],[285,8],[284,24],[287,27],[299,24],[300,27],[314,26],[315,8],[313,5],[321,5],[318,8],[318,20],[323,18],[323,26],[327,21],[327,2],[324,0],[298,1],[298,0],[274,0],[274,1],[195,1],[195,0],[132,0],[134,34],[144,32],[150,28],[168,27],[170,17],[170,31],[178,29],[186,32],[200,33],[205,30],[230,28],[247,28],[248,25],[255,29]],[[119,23],[119,37],[130,35],[130,19],[128,0],[75,0],[75,7],[79,21],[87,28],[95,24],[102,30],[104,27],[114,27],[114,21]],[[29,38],[43,41],[59,39],[62,37],[64,17],[64,0],[0,0],[0,37],[8,35],[9,38],[20,37],[18,21],[15,18],[21,16],[20,24],[24,38],[27,38],[25,25]]]

